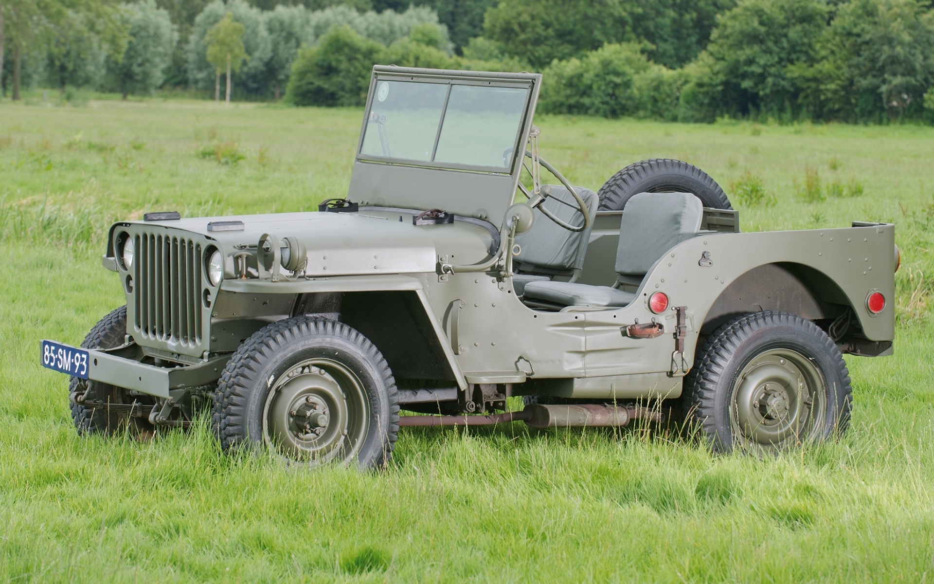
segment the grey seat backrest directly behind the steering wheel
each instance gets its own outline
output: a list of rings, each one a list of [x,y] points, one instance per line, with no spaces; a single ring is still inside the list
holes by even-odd
[[[574,187],[574,190],[581,195],[587,210],[590,211],[590,226],[579,232],[568,231],[545,217],[545,213],[536,208],[532,228],[516,236],[516,243],[521,248],[516,256],[520,269],[528,265],[570,272],[584,267],[590,230],[593,229],[593,221],[597,217],[600,199],[596,192],[589,189]],[[575,227],[584,224],[584,218],[577,209],[577,201],[574,200],[573,194],[562,186],[552,185],[551,194],[542,205],[561,221]]]

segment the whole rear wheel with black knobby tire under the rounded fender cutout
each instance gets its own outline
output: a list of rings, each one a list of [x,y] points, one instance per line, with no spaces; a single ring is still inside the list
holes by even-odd
[[[827,333],[799,316],[763,311],[707,337],[682,401],[687,422],[716,452],[763,453],[845,432],[852,392]]]

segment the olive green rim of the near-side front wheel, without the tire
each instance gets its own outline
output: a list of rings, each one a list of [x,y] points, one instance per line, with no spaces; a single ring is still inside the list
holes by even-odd
[[[352,462],[370,425],[360,378],[330,359],[292,365],[270,390],[262,420],[268,447],[310,466]]]

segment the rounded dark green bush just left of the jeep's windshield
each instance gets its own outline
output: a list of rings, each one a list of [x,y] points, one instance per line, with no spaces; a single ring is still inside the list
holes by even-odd
[[[336,26],[292,64],[286,101],[296,106],[361,106],[373,64],[385,49],[347,25]]]

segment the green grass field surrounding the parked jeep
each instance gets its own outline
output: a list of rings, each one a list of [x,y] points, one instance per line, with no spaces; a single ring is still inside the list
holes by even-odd
[[[38,341],[122,304],[109,222],[314,208],[346,192],[361,110],[0,103],[0,580],[934,578],[934,129],[538,123],[593,189],[663,156],[729,194],[758,181],[775,205],[738,205],[746,231],[895,221],[896,354],[847,358],[849,433],[757,460],[646,429],[406,429],[379,474],[226,457],[206,423],[79,438]]]

